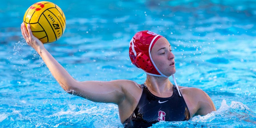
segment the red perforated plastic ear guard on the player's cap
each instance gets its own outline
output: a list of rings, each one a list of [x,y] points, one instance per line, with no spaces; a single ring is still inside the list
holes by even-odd
[[[139,68],[143,69],[146,72],[149,72],[153,69],[153,65],[150,62],[150,58],[142,52],[139,52],[137,54],[135,63],[139,66]]]

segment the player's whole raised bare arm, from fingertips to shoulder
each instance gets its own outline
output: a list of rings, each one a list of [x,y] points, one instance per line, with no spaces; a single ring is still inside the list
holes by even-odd
[[[75,94],[95,102],[119,104],[125,97],[123,91],[124,86],[131,84],[136,85],[135,82],[129,80],[115,80],[109,82],[76,81],[45,49],[43,43],[32,34],[29,24],[26,28],[25,24],[22,23],[21,32],[28,45],[34,48],[42,57],[60,86],[70,94]]]

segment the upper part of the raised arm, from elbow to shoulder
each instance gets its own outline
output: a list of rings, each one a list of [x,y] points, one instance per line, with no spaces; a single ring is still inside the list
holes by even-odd
[[[69,90],[75,94],[94,102],[119,104],[125,98],[123,86],[132,84],[129,80],[113,81],[77,81]]]

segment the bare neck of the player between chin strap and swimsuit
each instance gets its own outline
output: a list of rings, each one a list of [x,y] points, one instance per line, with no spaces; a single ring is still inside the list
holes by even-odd
[[[156,94],[163,94],[166,92],[172,92],[173,84],[166,77],[157,77],[147,74],[147,79],[145,81],[147,88]]]

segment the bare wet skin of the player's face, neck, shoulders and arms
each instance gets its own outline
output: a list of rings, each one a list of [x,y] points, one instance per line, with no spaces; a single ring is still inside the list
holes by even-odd
[[[94,102],[117,104],[122,123],[132,114],[142,94],[140,84],[131,80],[77,81],[45,49],[42,42],[33,36],[30,25],[26,28],[21,24],[21,32],[28,45],[41,56],[56,81],[66,92]],[[153,61],[166,76],[176,72],[174,55],[170,50],[170,44],[164,37],[158,39],[151,50]],[[145,83],[149,91],[158,97],[170,97],[173,93],[173,84],[168,78],[147,75]],[[201,89],[181,86],[179,88],[191,117],[194,114],[206,115],[216,111],[210,97]]]

